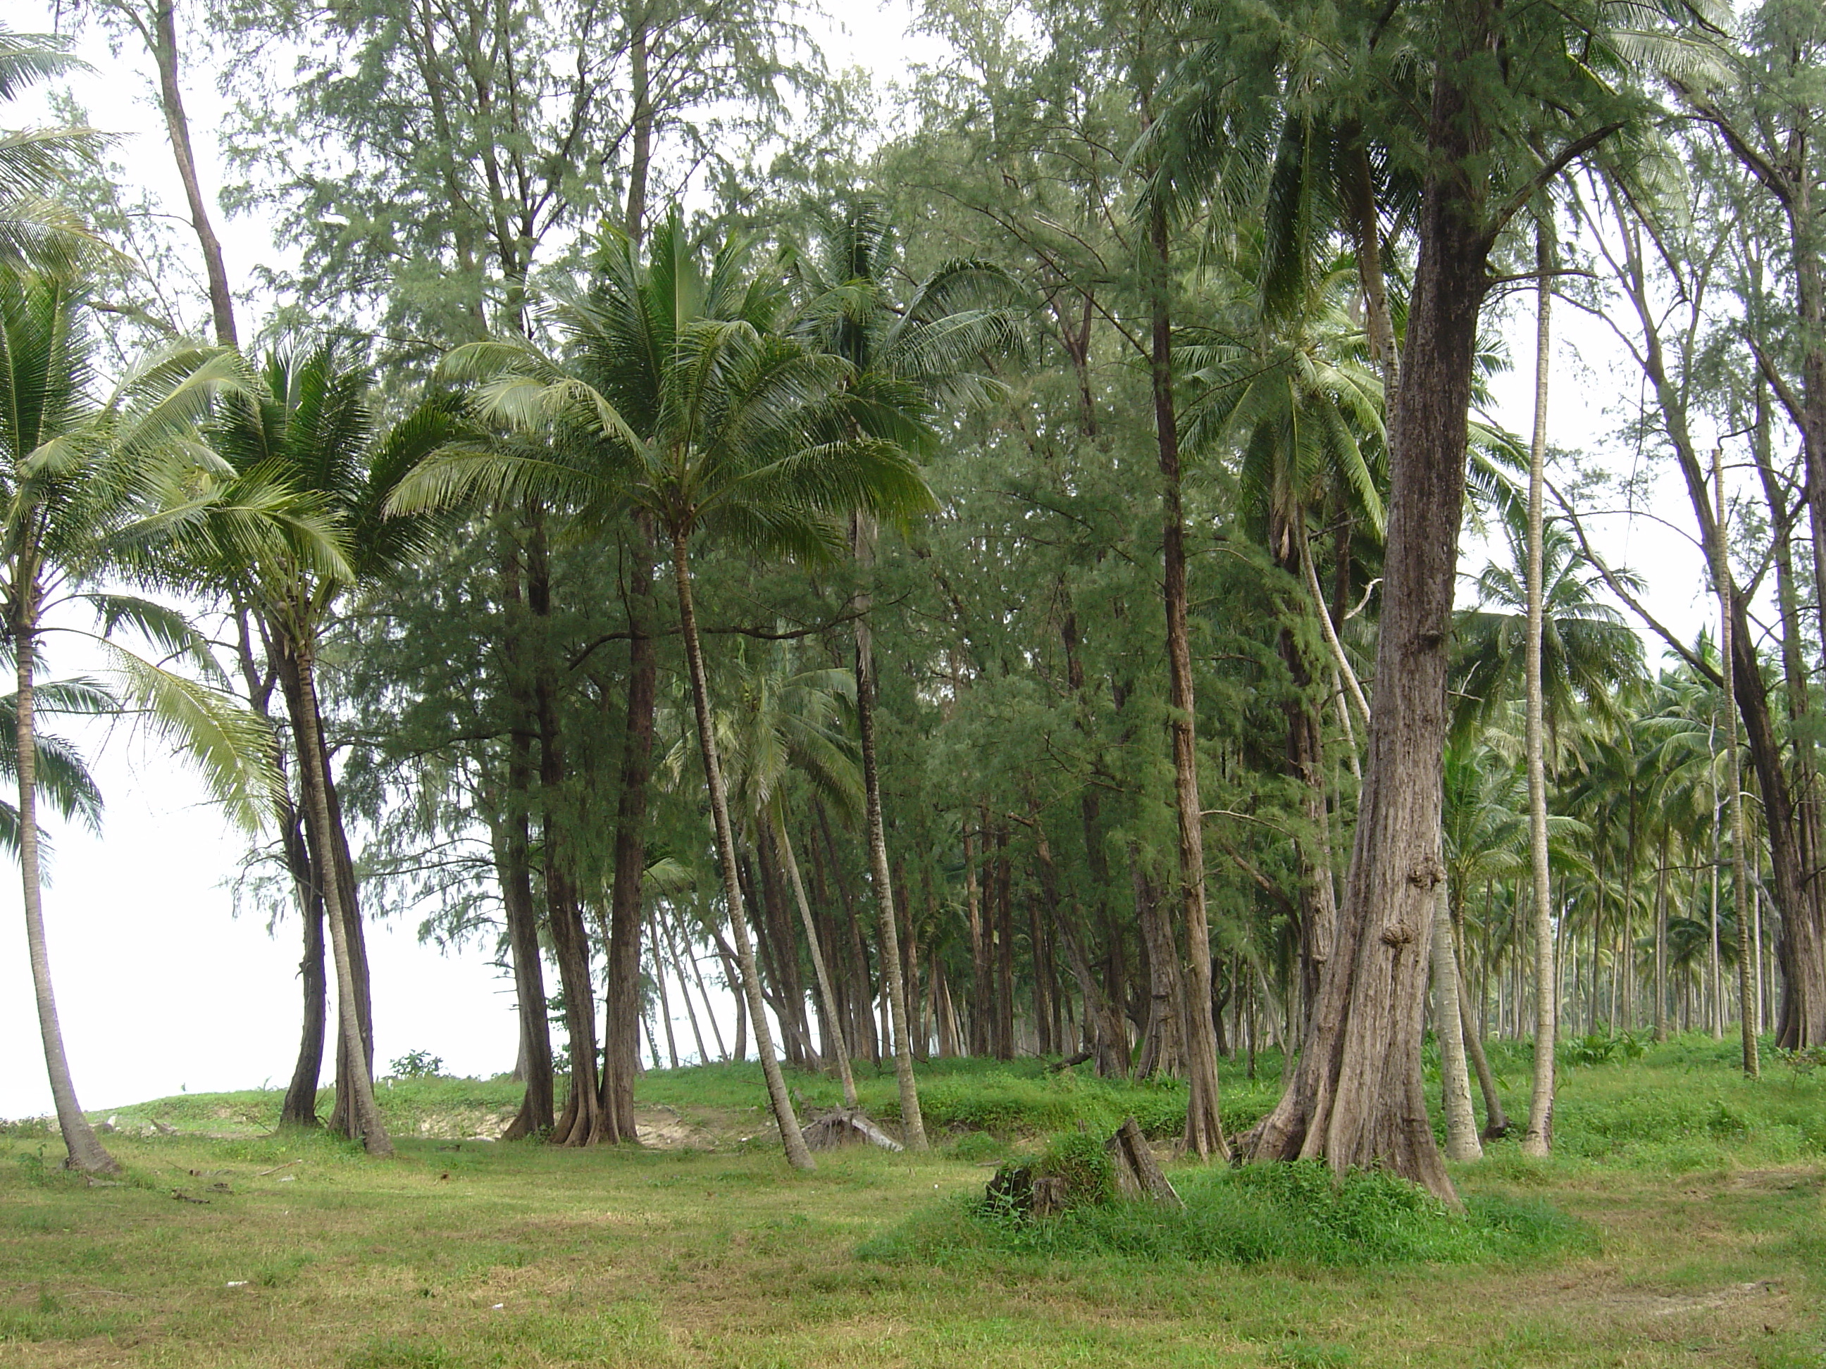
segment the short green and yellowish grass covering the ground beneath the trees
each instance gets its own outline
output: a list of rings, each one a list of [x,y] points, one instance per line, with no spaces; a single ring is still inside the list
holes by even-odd
[[[1527,1077],[1505,1057],[1514,1104]],[[1231,1081],[1242,1119],[1273,1099]],[[1240,1071],[1236,1071],[1240,1073]],[[1468,1199],[1574,1230],[1523,1258],[1317,1265],[1032,1254],[971,1236],[997,1155],[1128,1095],[1172,1090],[935,1068],[946,1115],[993,1112],[931,1157],[849,1150],[787,1170],[758,1075],[648,1075],[643,1104],[712,1148],[557,1152],[405,1139],[369,1161],[323,1137],[115,1135],[122,1186],[0,1135],[0,1365],[1826,1365],[1826,1081],[1685,1040],[1570,1070],[1561,1154],[1501,1143]],[[796,1079],[816,1106],[825,1084]],[[389,1110],[440,1124],[508,1082],[407,1081]],[[891,1082],[864,1081],[886,1106]],[[272,1095],[119,1110],[259,1124]],[[239,1108],[239,1115],[223,1117]],[[161,1115],[163,1113],[163,1115]],[[1041,1124],[1030,1123],[1039,1117]],[[741,1137],[749,1137],[743,1141]],[[1178,1174],[1178,1170],[1176,1170]],[[1211,1185],[1181,1174],[1183,1186]],[[190,1199],[184,1201],[183,1194]],[[931,1232],[957,1228],[957,1239]],[[911,1234],[924,1234],[920,1239]]]

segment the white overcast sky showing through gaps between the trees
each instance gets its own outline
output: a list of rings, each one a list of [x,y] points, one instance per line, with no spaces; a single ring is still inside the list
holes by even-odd
[[[929,38],[906,33],[900,0],[842,11],[842,26],[820,26],[833,68],[862,66],[878,82],[908,62],[935,55]],[[47,5],[15,5],[16,31],[53,26]],[[139,53],[122,58],[91,40],[84,57],[95,73],[71,82],[91,120],[119,135],[113,155],[177,214],[183,197],[170,172],[163,126],[150,99]],[[210,130],[221,126],[212,78],[194,68],[186,89],[203,177],[221,184]],[[29,122],[31,104],[5,111],[7,124]],[[228,266],[243,281],[263,261],[278,261],[268,226],[257,219],[221,223]],[[1508,325],[1516,354],[1532,356],[1527,308]],[[1530,427],[1532,374],[1497,383],[1497,416],[1514,431]],[[1552,440],[1590,447],[1618,423],[1620,403],[1634,403],[1634,376],[1590,329],[1572,327],[1556,350]],[[1685,524],[1678,502],[1656,500]],[[1691,637],[1709,619],[1702,562],[1691,542],[1653,520],[1611,518],[1603,537],[1616,564],[1649,575],[1653,608]],[[1481,568],[1485,551],[1466,551],[1464,570]],[[73,646],[51,674],[88,664]],[[1658,657],[1651,646],[1651,657]],[[88,1108],[115,1108],[148,1097],[190,1092],[283,1086],[298,1044],[298,924],[287,918],[267,933],[267,913],[234,916],[226,882],[245,851],[212,810],[199,785],[157,747],[119,728],[80,732],[106,796],[100,836],[53,827],[55,858],[46,891],[51,966],[64,1037],[79,1093]],[[49,1088],[38,1048],[31,975],[26,964],[16,865],[0,871],[0,1117],[47,1112]],[[407,1050],[444,1057],[455,1073],[508,1070],[515,1055],[513,1000],[480,949],[446,956],[420,946],[416,925],[369,925],[374,973],[376,1059]],[[727,1002],[727,1000],[725,1000]],[[674,998],[674,1006],[677,1000]],[[725,1022],[725,1031],[729,1029]],[[681,1050],[688,1040],[683,1015]],[[325,1070],[325,1079],[329,1070]]]

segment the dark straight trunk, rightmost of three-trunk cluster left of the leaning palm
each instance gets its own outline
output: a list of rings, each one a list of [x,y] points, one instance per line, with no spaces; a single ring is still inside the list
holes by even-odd
[[[634,1126],[634,1077],[641,1055],[641,882],[646,876],[646,801],[659,699],[659,663],[652,639],[654,531],[646,515],[635,515],[624,566],[628,712],[621,743],[621,790],[615,796],[615,873],[608,889],[608,984],[603,1093],[593,1137],[597,1143],[639,1139]]]

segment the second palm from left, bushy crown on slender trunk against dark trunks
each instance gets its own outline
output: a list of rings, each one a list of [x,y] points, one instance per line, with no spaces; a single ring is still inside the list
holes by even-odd
[[[210,579],[254,610],[285,688],[336,962],[338,1115],[371,1155],[385,1155],[393,1143],[374,1104],[367,956],[323,736],[318,655],[341,595],[382,579],[422,544],[425,520],[389,517],[383,506],[400,476],[449,438],[451,422],[427,409],[378,438],[371,387],[354,347],[303,340],[268,352],[257,383],[225,398],[208,431],[215,451],[234,471],[279,480],[320,509],[338,557],[325,564],[285,546],[221,546]]]

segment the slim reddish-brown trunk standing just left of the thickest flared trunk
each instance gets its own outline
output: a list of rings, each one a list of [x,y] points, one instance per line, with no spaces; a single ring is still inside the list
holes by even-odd
[[[1192,644],[1187,626],[1185,513],[1180,504],[1180,423],[1172,398],[1172,312],[1167,210],[1152,214],[1152,350],[1154,444],[1160,453],[1161,568],[1167,608],[1167,677],[1172,717],[1172,790],[1180,823],[1180,918],[1185,924],[1183,995],[1185,1148],[1200,1159],[1229,1159],[1218,1115],[1218,1037],[1211,1022],[1211,927],[1205,920],[1205,820],[1198,798],[1198,701],[1192,686]]]

